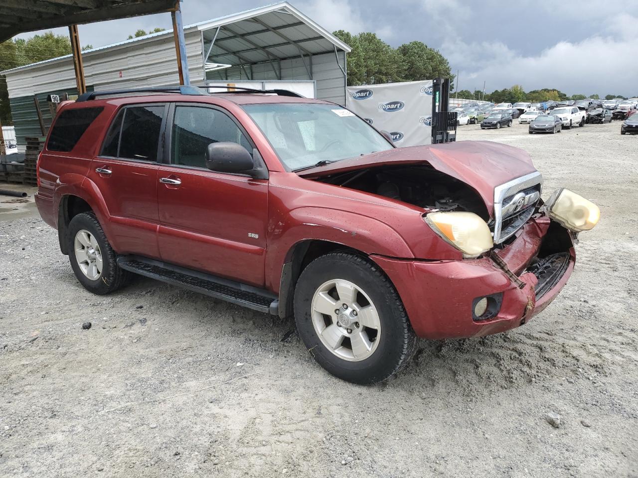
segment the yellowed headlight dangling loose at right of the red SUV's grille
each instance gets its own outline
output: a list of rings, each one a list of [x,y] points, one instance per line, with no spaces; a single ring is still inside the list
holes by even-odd
[[[589,231],[600,219],[597,205],[564,187],[554,191],[545,208],[551,219],[576,233]]]

